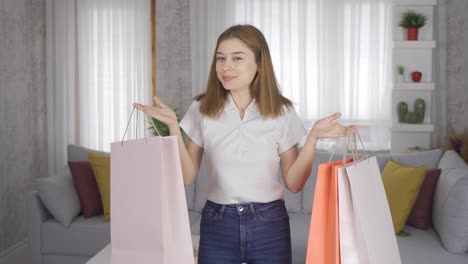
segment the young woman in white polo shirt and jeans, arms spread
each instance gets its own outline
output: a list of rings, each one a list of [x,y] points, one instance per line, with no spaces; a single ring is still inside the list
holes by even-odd
[[[291,263],[289,216],[283,188],[299,192],[309,177],[317,140],[341,137],[355,127],[316,122],[306,135],[291,101],[276,83],[268,44],[251,25],[228,28],[218,38],[206,91],[195,97],[180,126],[157,97],[155,107],[134,104],[161,120],[178,137],[185,184],[208,171],[208,201],[200,226],[201,264]]]

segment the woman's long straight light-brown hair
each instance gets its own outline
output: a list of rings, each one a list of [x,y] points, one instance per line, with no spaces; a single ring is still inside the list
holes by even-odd
[[[251,25],[232,26],[218,37],[206,91],[194,98],[200,101],[200,113],[217,118],[228,100],[229,91],[224,89],[216,74],[216,52],[222,41],[231,38],[244,42],[255,55],[258,72],[250,84],[250,94],[257,101],[260,114],[263,118],[281,116],[283,107],[292,107],[292,103],[281,95],[265,37]]]

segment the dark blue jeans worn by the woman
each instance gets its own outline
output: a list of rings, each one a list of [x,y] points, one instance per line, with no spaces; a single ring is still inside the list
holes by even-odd
[[[222,205],[207,201],[200,223],[199,264],[290,264],[284,200]]]

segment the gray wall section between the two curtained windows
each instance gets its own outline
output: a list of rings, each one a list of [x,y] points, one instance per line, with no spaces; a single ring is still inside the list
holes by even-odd
[[[156,93],[181,115],[192,101],[190,61],[189,0],[156,0]]]

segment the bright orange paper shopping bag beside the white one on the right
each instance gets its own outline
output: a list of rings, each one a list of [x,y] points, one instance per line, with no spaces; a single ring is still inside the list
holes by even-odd
[[[347,159],[319,165],[306,264],[340,263],[337,170],[352,161]]]

